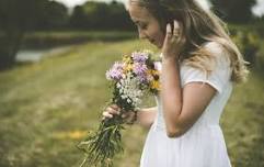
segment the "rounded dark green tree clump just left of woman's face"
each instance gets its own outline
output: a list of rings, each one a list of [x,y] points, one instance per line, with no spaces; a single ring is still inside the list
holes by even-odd
[[[88,1],[74,8],[70,19],[72,27],[82,30],[131,30],[133,23],[125,5]]]

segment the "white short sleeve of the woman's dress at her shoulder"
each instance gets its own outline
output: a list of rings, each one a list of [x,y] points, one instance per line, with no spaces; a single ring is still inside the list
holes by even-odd
[[[213,46],[216,47],[215,44]],[[210,46],[210,49],[213,48],[213,46]],[[218,45],[218,47],[220,46]],[[182,71],[181,71],[182,87],[184,87],[190,82],[198,81],[198,82],[210,85],[219,93],[222,92],[226,84],[230,80],[230,76],[231,76],[230,60],[228,56],[225,55],[227,53],[223,52],[222,49],[218,48],[213,51],[211,53],[215,54],[214,56],[215,63],[214,63],[213,71],[208,75],[202,69],[191,67],[188,65],[182,66]]]

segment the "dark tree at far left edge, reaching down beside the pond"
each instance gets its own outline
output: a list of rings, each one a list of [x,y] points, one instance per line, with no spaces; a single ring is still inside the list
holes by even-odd
[[[0,0],[0,69],[14,64],[23,35],[33,30],[48,0]]]

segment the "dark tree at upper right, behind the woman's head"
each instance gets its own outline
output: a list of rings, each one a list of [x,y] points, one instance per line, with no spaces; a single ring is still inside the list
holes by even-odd
[[[213,10],[223,20],[246,23],[253,19],[251,11],[255,0],[210,0]]]

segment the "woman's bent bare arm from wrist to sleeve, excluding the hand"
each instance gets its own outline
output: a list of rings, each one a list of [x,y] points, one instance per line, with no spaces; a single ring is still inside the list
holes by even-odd
[[[184,134],[216,93],[216,89],[203,82],[190,82],[182,89],[180,80],[177,63],[174,59],[163,59],[161,100],[169,137]]]

